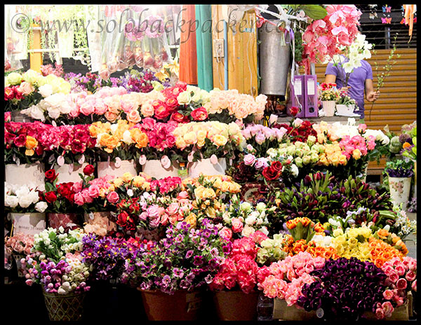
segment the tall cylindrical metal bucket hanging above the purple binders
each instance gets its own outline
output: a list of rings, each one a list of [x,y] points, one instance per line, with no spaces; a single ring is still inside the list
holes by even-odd
[[[276,20],[271,20],[276,24]],[[290,37],[276,26],[265,22],[259,28],[259,69],[262,78],[260,93],[286,95],[288,71],[290,69]],[[288,43],[286,43],[288,42]],[[282,46],[281,44],[286,44]]]

